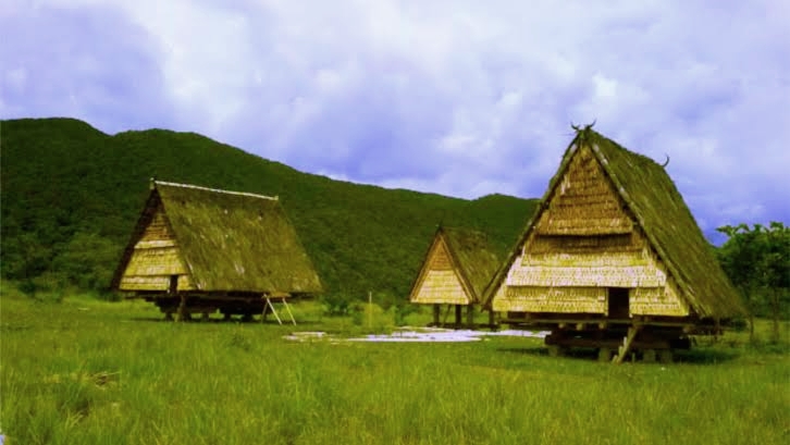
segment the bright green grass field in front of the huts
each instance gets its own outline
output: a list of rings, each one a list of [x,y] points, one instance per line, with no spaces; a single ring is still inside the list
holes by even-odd
[[[317,302],[296,312],[296,330],[363,330]],[[294,343],[294,326],[160,320],[5,292],[7,444],[790,443],[787,325],[779,346],[735,333],[674,364],[612,366],[540,339]]]

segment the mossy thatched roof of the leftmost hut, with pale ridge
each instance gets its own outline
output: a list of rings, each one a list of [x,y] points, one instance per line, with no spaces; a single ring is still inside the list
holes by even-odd
[[[318,293],[321,283],[277,198],[156,181],[113,287],[163,209],[199,292]]]

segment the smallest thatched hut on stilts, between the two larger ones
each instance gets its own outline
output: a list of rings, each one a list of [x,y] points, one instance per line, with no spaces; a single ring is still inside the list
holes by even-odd
[[[440,226],[411,287],[409,300],[433,306],[433,324],[446,324],[455,306],[455,324],[461,324],[461,307],[467,307],[467,324],[473,323],[473,308],[483,302],[483,292],[496,272],[499,260],[485,235],[466,228]],[[446,305],[444,320],[441,307]]]

